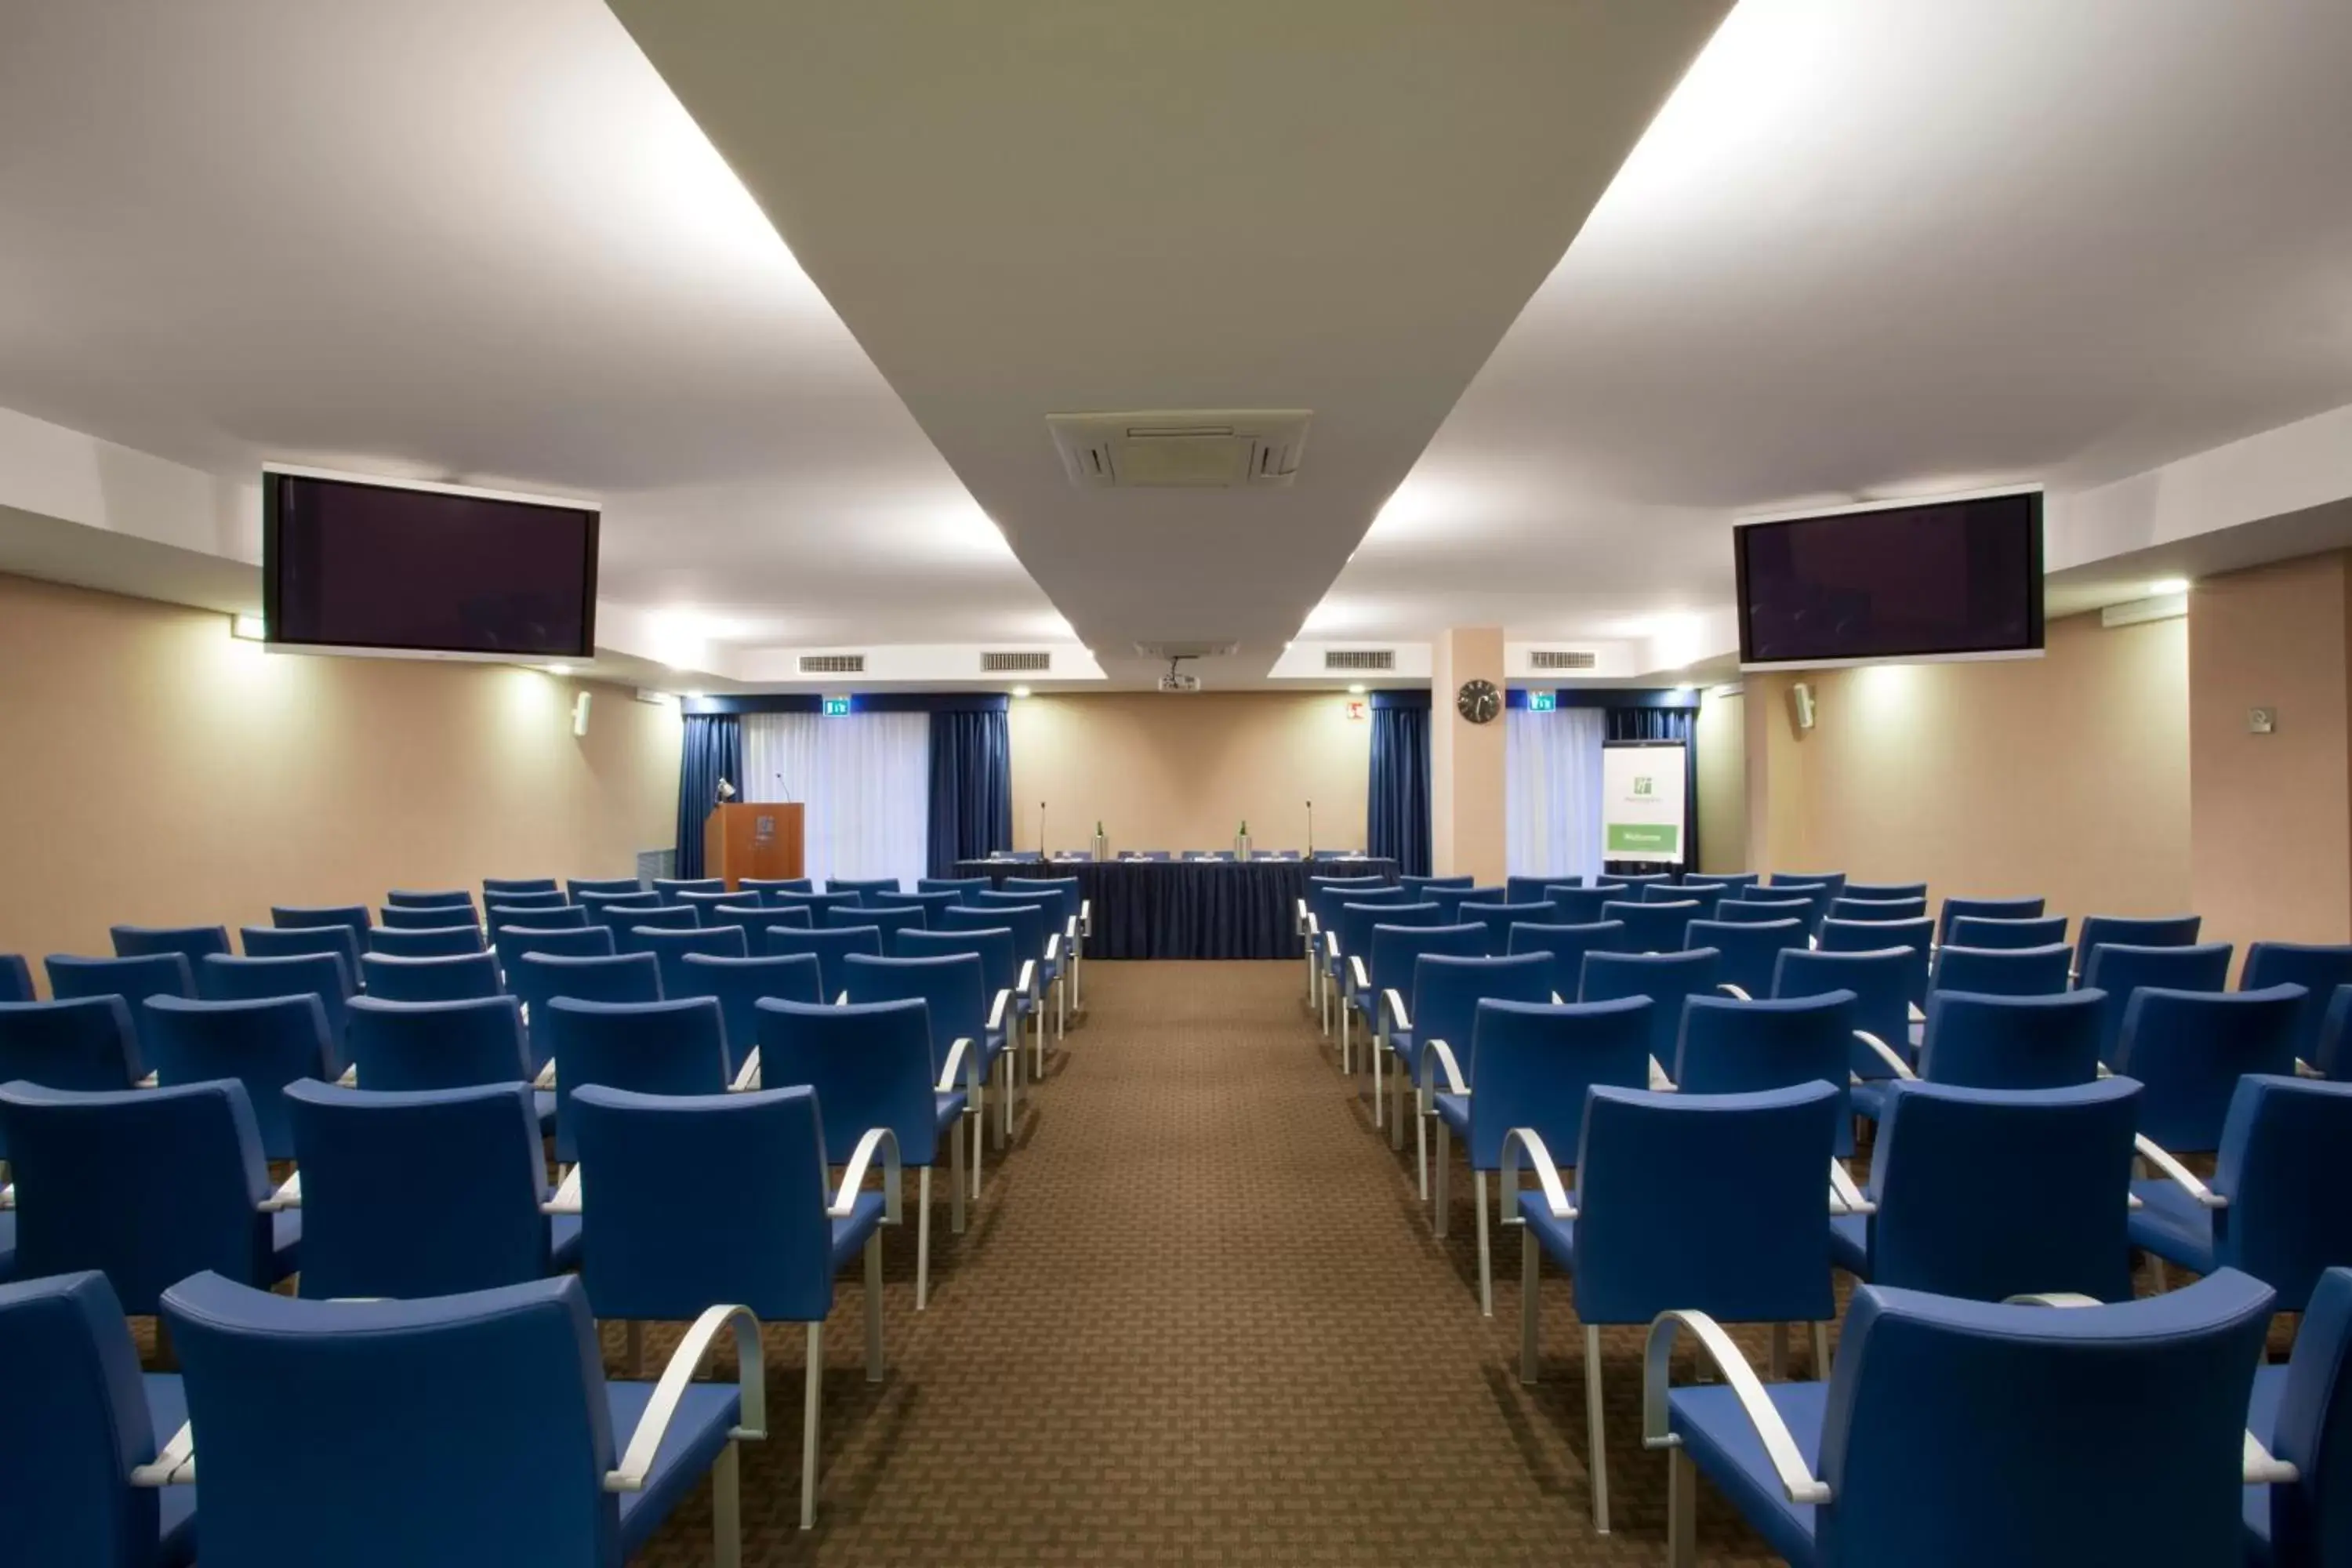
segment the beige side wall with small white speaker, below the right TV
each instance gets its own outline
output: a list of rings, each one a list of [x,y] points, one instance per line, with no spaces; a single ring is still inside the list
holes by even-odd
[[[1804,736],[1797,679],[1818,701]],[[1938,898],[2042,893],[2053,914],[2194,903],[2185,621],[2110,632],[2072,616],[2037,661],[1759,675],[1745,689],[1759,870],[1924,879]]]

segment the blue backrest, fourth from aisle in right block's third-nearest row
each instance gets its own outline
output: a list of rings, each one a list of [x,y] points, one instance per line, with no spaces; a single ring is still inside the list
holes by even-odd
[[[2143,985],[2124,1009],[2110,1063],[2140,1079],[2140,1131],[2173,1154],[2220,1147],[2230,1095],[2249,1072],[2296,1074],[2300,985],[2258,992],[2180,992]]]

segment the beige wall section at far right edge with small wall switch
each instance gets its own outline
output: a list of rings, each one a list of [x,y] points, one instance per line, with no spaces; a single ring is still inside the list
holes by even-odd
[[[2194,907],[2216,940],[2352,940],[2347,592],[2331,552],[2190,595]],[[2277,708],[2277,733],[2249,708]]]

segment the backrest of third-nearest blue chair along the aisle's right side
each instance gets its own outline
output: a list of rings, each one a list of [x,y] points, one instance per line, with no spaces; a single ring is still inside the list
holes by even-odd
[[[1595,1084],[1649,1084],[1651,1006],[1644,997],[1479,1001],[1461,1063],[1470,1079],[1470,1166],[1498,1168],[1515,1126],[1536,1128],[1552,1159],[1571,1159]]]

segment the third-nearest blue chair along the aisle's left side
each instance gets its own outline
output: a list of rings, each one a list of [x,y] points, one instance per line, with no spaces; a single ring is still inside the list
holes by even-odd
[[[964,1229],[964,1110],[957,1084],[976,1081],[971,1058],[931,1060],[931,1018],[920,997],[804,1006],[760,1004],[760,1081],[807,1084],[816,1091],[826,1147],[847,1150],[887,1128],[898,1164],[920,1175],[915,1187],[915,1312],[931,1305],[931,1168],[941,1135],[948,1143],[948,1192],[955,1232]]]

